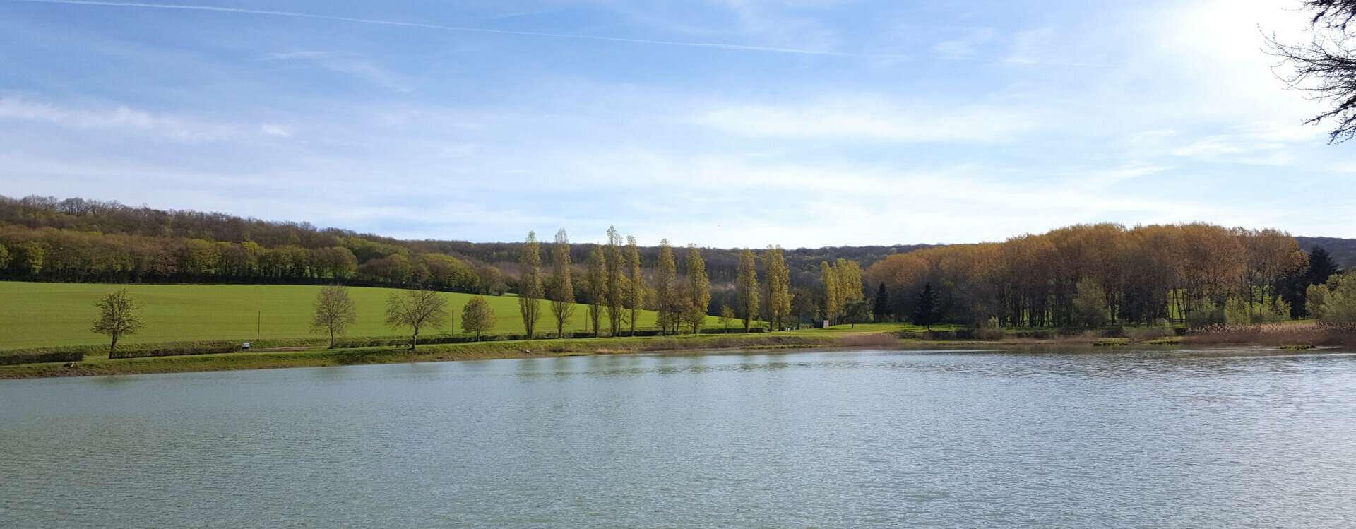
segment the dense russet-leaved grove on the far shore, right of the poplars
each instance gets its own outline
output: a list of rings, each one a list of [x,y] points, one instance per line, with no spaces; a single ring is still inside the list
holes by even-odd
[[[952,323],[1201,326],[1224,323],[1226,311],[1254,321],[1303,317],[1307,286],[1336,271],[1326,252],[1313,255],[1311,263],[1295,237],[1275,229],[1097,224],[923,248],[865,275],[888,297],[876,311],[887,315],[917,313],[932,289],[936,315]]]

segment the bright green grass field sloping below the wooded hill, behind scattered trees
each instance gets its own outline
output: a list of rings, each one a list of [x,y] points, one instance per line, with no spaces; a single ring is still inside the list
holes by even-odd
[[[127,289],[144,305],[141,316],[146,328],[119,343],[155,343],[182,340],[305,338],[309,332],[312,304],[320,286],[308,285],[106,285],[106,283],[35,283],[0,281],[0,349],[58,347],[108,343],[107,336],[89,331],[98,309],[94,302],[117,289]],[[358,321],[350,336],[393,336],[407,331],[385,324],[386,296],[396,289],[350,288],[358,308]],[[447,298],[453,324],[422,330],[422,336],[461,332],[461,305],[472,294],[442,293]],[[517,297],[488,296],[498,321],[494,334],[522,334]],[[567,330],[582,331],[589,309],[576,305]],[[651,327],[654,312],[643,312],[640,326]],[[711,317],[708,326],[715,326]],[[603,327],[606,328],[606,320]],[[537,332],[553,332],[555,319],[546,302]]]

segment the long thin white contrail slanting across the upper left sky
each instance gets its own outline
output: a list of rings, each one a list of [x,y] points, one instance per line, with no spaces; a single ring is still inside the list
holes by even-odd
[[[176,5],[176,4],[153,4],[153,3],[144,3],[144,1],[91,1],[91,0],[7,0],[7,1],[26,1],[26,3],[34,3],[34,4],[75,4],[75,5],[103,5],[103,7],[140,7],[140,8],[151,8],[151,9],[216,11],[216,12],[233,12],[233,14],[245,14],[245,15],[293,16],[293,18],[304,18],[304,19],[353,22],[353,23],[361,23],[361,24],[399,26],[399,27],[422,27],[422,28],[443,30],[443,31],[492,33],[492,34],[500,34],[500,35],[526,35],[526,37],[549,37],[549,38],[575,38],[575,39],[587,39],[587,41],[629,42],[629,43],[659,45],[659,46],[713,47],[713,49],[744,50],[744,52],[793,53],[793,54],[803,54],[803,56],[906,57],[906,56],[900,56],[900,54],[864,54],[864,53],[803,50],[803,49],[795,49],[795,47],[744,46],[744,45],[715,43],[715,42],[654,41],[654,39],[645,39],[645,38],[584,35],[584,34],[572,34],[572,33],[541,33],[541,31],[491,30],[491,28],[484,28],[484,27],[439,26],[439,24],[424,24],[424,23],[418,23],[418,22],[373,20],[373,19],[358,19],[358,18],[351,18],[351,16],[313,15],[313,14],[294,12],[294,11],[244,9],[244,8],[212,7],[212,5]]]

